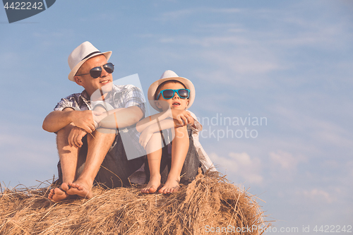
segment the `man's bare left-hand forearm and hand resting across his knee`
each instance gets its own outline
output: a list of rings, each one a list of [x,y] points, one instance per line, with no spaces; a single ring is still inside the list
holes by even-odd
[[[95,131],[92,111],[76,111],[71,108],[51,112],[45,117],[42,127],[45,131],[57,132],[70,123],[75,124],[75,126],[79,128],[83,128],[83,130],[88,133]]]

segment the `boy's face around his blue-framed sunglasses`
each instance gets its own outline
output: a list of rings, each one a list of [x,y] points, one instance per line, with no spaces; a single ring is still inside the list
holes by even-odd
[[[181,83],[168,82],[161,85],[160,88],[158,88],[157,92],[159,94],[161,90],[166,90],[166,89],[178,90],[178,89],[185,89],[185,87]],[[185,110],[186,107],[188,107],[189,99],[181,99],[178,93],[174,92],[174,97],[172,97],[172,99],[169,99],[169,100],[165,100],[163,96],[160,95],[160,97],[158,98],[158,101],[155,101],[155,104],[157,105],[158,108],[162,109],[163,111],[169,108]]]

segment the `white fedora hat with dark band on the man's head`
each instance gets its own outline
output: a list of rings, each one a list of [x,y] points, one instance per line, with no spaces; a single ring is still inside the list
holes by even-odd
[[[76,75],[78,68],[80,68],[80,66],[82,66],[88,59],[100,54],[104,54],[108,61],[112,55],[112,52],[100,52],[90,42],[83,42],[83,44],[76,47],[68,56],[68,66],[71,69],[71,72],[68,73],[68,80],[72,80],[74,82],[75,79],[73,77]]]

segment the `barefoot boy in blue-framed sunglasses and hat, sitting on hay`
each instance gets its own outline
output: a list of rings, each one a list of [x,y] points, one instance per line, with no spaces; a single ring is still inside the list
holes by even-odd
[[[189,183],[195,179],[201,163],[204,171],[215,171],[212,162],[198,143],[198,138],[194,144],[193,135],[197,135],[202,129],[201,124],[195,120],[196,116],[186,111],[194,99],[193,83],[177,76],[173,71],[165,71],[160,80],[150,85],[148,100],[151,106],[161,113],[148,116],[136,125],[137,131],[141,133],[140,144],[148,152],[145,171],[150,177],[148,185],[141,193],[155,193],[161,181],[165,183],[159,193],[174,193],[178,191],[181,180],[183,183]],[[172,132],[173,142],[166,145],[165,139],[169,136],[163,136],[161,130],[168,128]],[[200,151],[196,149],[196,145]],[[201,162],[198,152],[202,155]]]

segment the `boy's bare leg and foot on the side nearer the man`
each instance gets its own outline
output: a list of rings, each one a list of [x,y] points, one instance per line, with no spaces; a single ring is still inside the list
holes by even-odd
[[[162,158],[162,143],[160,133],[154,133],[146,147],[148,153],[148,169],[150,181],[141,193],[155,193],[160,186],[160,161]]]

